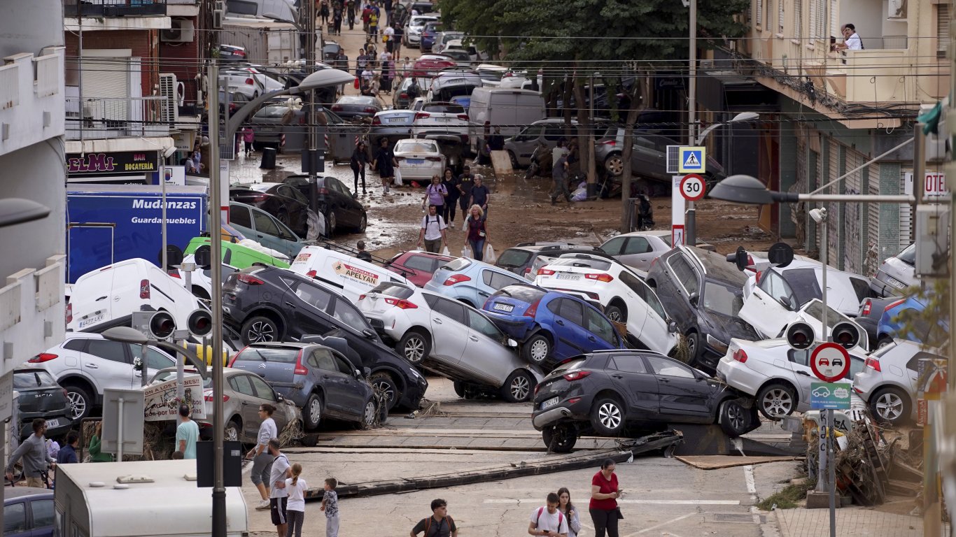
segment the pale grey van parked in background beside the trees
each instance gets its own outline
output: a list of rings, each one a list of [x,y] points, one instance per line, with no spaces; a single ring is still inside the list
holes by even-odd
[[[484,142],[485,121],[501,126],[501,134],[518,134],[522,125],[545,117],[544,97],[532,90],[511,88],[475,88],[468,106],[468,140],[471,151],[478,152]],[[480,140],[481,139],[481,140]]]

